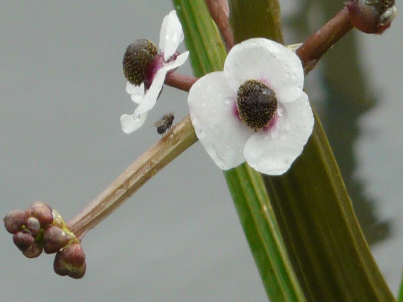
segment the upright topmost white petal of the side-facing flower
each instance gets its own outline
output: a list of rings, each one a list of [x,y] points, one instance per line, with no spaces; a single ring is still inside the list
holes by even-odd
[[[183,41],[182,26],[176,16],[176,11],[171,11],[164,17],[160,31],[160,49],[164,52],[164,60],[167,61]]]

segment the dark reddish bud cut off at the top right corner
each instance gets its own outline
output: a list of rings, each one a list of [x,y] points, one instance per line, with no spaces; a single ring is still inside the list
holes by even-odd
[[[367,34],[381,34],[396,16],[394,0],[350,0],[346,3],[353,25]]]

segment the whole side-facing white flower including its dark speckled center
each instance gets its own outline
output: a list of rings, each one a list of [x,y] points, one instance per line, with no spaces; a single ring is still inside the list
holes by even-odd
[[[123,132],[131,133],[144,124],[147,112],[157,102],[166,74],[186,61],[189,52],[179,54],[176,51],[183,38],[176,11],[171,11],[161,25],[161,53],[157,53],[154,43],[145,39],[137,40],[127,47],[123,57],[123,72],[128,80],[126,92],[138,106],[133,114],[120,117]]]

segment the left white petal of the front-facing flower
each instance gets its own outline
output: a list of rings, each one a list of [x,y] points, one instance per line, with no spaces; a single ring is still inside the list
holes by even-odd
[[[254,133],[234,114],[235,101],[236,92],[228,86],[222,71],[200,78],[187,98],[196,135],[222,170],[245,161],[242,150]]]

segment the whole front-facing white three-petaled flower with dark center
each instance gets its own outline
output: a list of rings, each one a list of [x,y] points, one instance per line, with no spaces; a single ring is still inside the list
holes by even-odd
[[[224,70],[200,78],[188,96],[196,135],[216,165],[246,161],[264,174],[285,173],[313,129],[303,84],[301,61],[287,47],[263,38],[235,45]]]

